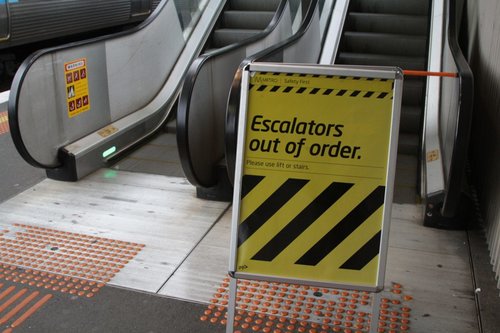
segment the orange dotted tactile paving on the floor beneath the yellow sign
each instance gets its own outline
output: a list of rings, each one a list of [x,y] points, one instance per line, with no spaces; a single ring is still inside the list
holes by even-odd
[[[227,278],[202,321],[226,325],[228,288]],[[390,297],[381,299],[378,332],[408,332],[412,299],[393,283]],[[368,332],[371,311],[372,295],[366,292],[238,280],[234,332]]]

